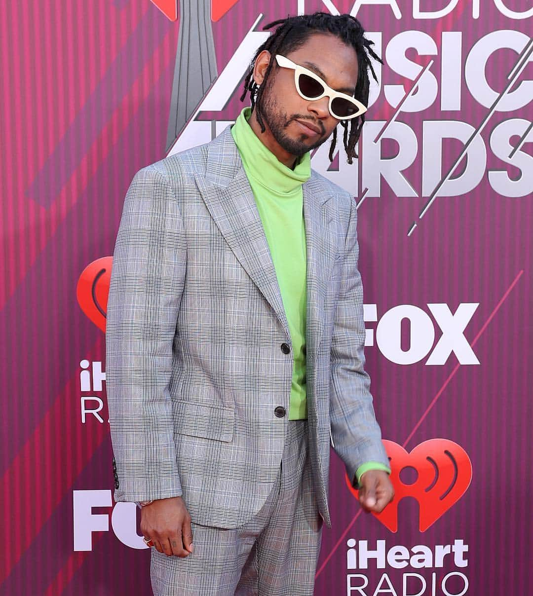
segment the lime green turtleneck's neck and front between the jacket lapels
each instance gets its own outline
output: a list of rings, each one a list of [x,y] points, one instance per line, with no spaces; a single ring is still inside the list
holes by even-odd
[[[302,184],[311,176],[309,151],[290,169],[264,145],[245,107],[231,127],[265,229],[289,324],[294,358],[289,420],[307,418],[305,391],[306,245]]]

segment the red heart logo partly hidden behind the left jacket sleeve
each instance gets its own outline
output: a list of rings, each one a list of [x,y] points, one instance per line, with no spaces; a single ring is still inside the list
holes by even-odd
[[[76,287],[80,308],[104,333],[112,263],[113,257],[93,261],[83,269]]]

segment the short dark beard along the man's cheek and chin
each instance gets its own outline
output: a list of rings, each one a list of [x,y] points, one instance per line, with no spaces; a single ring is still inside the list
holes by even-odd
[[[309,142],[305,140],[309,138],[305,132],[294,137],[288,135],[285,131],[293,120],[299,119],[305,122],[305,120],[308,120],[309,118],[300,114],[293,114],[289,117],[286,112],[278,107],[277,101],[272,97],[270,92],[271,87],[272,82],[268,80],[267,88],[264,89],[261,97],[261,107],[256,104],[256,110],[259,108],[264,123],[270,129],[272,136],[278,142],[280,147],[288,153],[300,158],[308,151],[320,147],[321,144],[327,141],[327,136],[319,136],[317,141],[309,144]],[[322,128],[321,123],[318,123],[318,126]]]

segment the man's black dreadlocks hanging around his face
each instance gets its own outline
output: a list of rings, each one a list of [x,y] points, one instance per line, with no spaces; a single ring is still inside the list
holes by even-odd
[[[244,91],[240,97],[243,101],[246,97],[246,92],[250,92],[250,100],[252,101],[252,111],[255,105],[258,105],[256,110],[256,117],[261,132],[265,132],[265,125],[261,115],[261,97],[267,82],[268,76],[272,70],[274,60],[271,59],[265,72],[265,78],[262,85],[258,85],[253,80],[253,69],[256,58],[264,49],[267,49],[272,56],[275,54],[288,54],[289,52],[300,48],[305,44],[306,40],[314,32],[333,33],[337,38],[345,42],[346,45],[351,45],[357,52],[358,60],[358,77],[357,85],[355,87],[355,97],[362,101],[365,105],[368,104],[368,93],[370,91],[370,80],[368,79],[368,70],[372,73],[374,80],[377,82],[376,73],[370,62],[370,57],[383,64],[382,60],[377,56],[376,52],[371,48],[374,42],[364,37],[364,29],[357,18],[349,14],[332,15],[329,13],[316,12],[314,14],[303,14],[297,17],[281,18],[277,21],[272,21],[263,27],[263,29],[270,29],[275,25],[277,27],[274,33],[262,44],[256,51],[255,56],[250,63],[250,69],[244,78]],[[357,152],[355,147],[361,135],[362,125],[364,124],[365,116],[356,116],[351,120],[340,120],[340,125],[344,128],[343,142],[348,156],[348,163],[352,163],[352,158],[357,159]],[[348,134],[348,124],[351,123],[351,128]],[[333,129],[333,139],[331,140],[329,159],[333,161],[333,151],[337,142],[337,128]]]

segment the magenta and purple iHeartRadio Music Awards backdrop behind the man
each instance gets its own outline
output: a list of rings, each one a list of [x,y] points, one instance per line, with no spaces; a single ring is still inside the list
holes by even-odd
[[[531,0],[97,0],[1,8],[0,593],[150,594],[113,502],[106,304],[126,190],[210,141],[287,15],[357,16],[383,67],[349,165],[366,370],[396,498],[331,457],[316,594],[529,593]],[[342,135],[341,135],[342,136]]]

